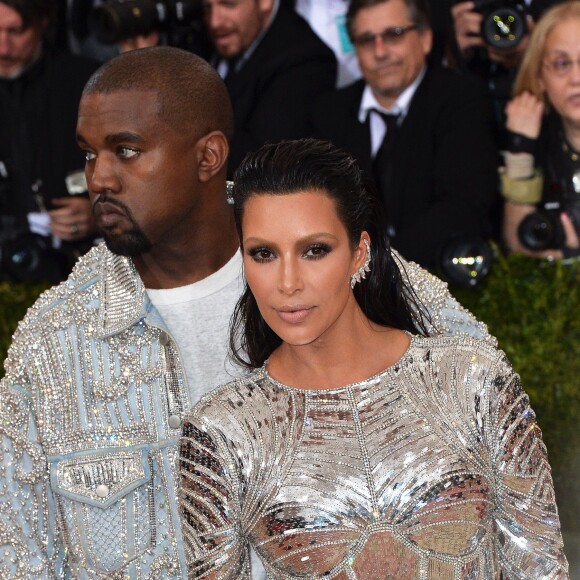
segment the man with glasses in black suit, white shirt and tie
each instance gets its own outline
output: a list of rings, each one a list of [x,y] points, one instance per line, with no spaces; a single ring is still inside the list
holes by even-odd
[[[436,267],[461,237],[490,234],[497,154],[485,89],[427,65],[422,0],[352,0],[347,26],[364,78],[319,99],[313,133],[373,172],[393,246]]]

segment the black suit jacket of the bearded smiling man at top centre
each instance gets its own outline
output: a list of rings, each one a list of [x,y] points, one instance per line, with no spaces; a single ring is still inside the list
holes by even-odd
[[[336,82],[336,59],[292,10],[280,6],[270,28],[226,86],[234,107],[230,174],[266,142],[308,135],[311,100]]]

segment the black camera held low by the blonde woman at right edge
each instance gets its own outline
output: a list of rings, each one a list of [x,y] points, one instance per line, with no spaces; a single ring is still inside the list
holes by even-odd
[[[580,173],[580,172],[579,172]],[[558,190],[553,186],[550,195],[538,205],[537,211],[528,214],[518,227],[518,238],[529,250],[562,248],[566,235],[560,214],[566,212],[580,235],[580,174],[576,174],[577,190]]]

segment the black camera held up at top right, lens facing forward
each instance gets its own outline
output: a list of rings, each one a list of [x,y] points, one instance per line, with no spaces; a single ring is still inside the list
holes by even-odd
[[[481,37],[490,46],[513,48],[526,34],[527,10],[523,0],[475,0],[474,10],[483,16]]]

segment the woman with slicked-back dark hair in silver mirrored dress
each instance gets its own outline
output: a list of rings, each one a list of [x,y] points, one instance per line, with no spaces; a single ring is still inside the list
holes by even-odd
[[[504,353],[427,336],[378,204],[330,144],[266,145],[236,175],[251,370],[184,423],[189,574],[566,578],[546,449]]]

